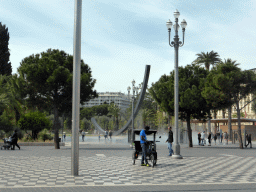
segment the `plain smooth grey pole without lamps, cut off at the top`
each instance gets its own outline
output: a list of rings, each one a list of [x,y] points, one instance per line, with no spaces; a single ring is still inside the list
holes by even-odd
[[[79,167],[79,114],[80,114],[80,74],[81,74],[81,21],[82,0],[75,0],[74,53],[73,53],[73,101],[72,101],[72,141],[71,175],[78,176]]]

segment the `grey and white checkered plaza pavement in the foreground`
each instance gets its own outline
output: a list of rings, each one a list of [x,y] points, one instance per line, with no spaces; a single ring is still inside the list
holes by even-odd
[[[81,143],[79,176],[71,176],[71,149],[23,146],[0,150],[0,191],[25,187],[134,186],[256,183],[255,149],[238,145],[181,146],[183,159],[159,145],[157,166],[132,165],[129,145]]]

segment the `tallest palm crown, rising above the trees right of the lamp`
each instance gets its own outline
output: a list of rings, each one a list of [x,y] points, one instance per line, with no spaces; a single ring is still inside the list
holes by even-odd
[[[221,61],[219,58],[219,54],[217,52],[211,51],[210,53],[198,53],[196,54],[198,57],[193,63],[202,65],[204,64],[205,68],[209,71],[210,65],[216,65],[218,62]]]

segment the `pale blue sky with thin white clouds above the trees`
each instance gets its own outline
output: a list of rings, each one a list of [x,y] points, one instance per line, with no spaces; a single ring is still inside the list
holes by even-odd
[[[243,70],[255,68],[255,0],[84,0],[81,57],[98,92],[127,93],[133,79],[143,81],[146,64],[149,86],[174,70],[166,21],[174,22],[176,9],[179,22],[188,24],[179,65],[214,50]],[[13,73],[23,58],[49,48],[73,55],[74,0],[0,0],[0,14],[10,33]]]

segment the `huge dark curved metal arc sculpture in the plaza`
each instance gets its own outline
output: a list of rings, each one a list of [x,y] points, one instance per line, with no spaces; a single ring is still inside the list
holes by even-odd
[[[138,114],[140,106],[141,106],[141,104],[144,100],[144,96],[145,96],[146,89],[147,89],[147,86],[148,86],[149,72],[150,72],[150,65],[146,65],[144,80],[143,80],[140,96],[139,96],[138,102],[136,103],[135,110],[134,110],[134,119],[135,119],[136,115]],[[99,126],[99,124],[96,122],[96,120],[93,117],[91,118],[91,121],[92,121],[93,125],[95,126],[95,128],[101,134],[105,133],[105,131]],[[131,123],[132,123],[132,116],[127,121],[127,123],[123,126],[123,128],[121,128],[118,131],[113,133],[113,136],[119,135],[119,134],[123,133],[124,131],[126,131]]]

